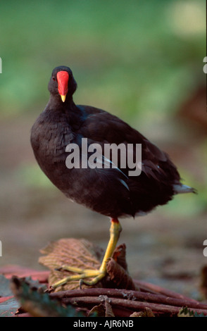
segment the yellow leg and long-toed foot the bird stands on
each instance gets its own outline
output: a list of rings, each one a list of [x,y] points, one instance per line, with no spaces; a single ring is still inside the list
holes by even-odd
[[[70,280],[80,280],[81,282],[84,282],[84,284],[86,285],[95,285],[97,282],[99,282],[99,280],[101,280],[103,277],[106,276],[106,263],[108,261],[108,258],[110,258],[113,254],[121,230],[122,228],[120,226],[118,219],[112,218],[111,227],[110,227],[110,239],[99,270],[81,269],[70,266],[63,266],[62,269],[72,271],[73,273],[77,273],[78,275],[70,275],[68,277],[65,277],[63,278],[63,280],[60,280],[56,282],[54,285],[52,285],[52,287],[56,288],[58,286],[64,285],[65,283],[70,282]],[[85,278],[90,278],[90,277],[94,277],[94,279],[90,281],[84,280]]]

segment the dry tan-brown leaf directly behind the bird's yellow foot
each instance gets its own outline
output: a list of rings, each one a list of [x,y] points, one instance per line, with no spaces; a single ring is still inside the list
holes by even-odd
[[[49,274],[49,286],[69,275],[75,275],[66,270],[56,270],[62,266],[70,266],[82,269],[99,269],[101,266],[101,254],[103,251],[86,239],[63,238],[49,243],[41,250],[44,256],[39,258],[39,263],[51,270]],[[56,292],[80,287],[79,280],[73,280],[55,289]],[[84,287],[84,285],[82,285]],[[94,285],[96,287],[96,285]],[[100,283],[99,283],[100,287]]]

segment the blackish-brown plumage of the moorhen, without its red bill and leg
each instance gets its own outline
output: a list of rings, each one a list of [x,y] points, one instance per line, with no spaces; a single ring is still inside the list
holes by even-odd
[[[58,92],[57,73],[69,74],[65,102]],[[166,204],[174,194],[193,192],[180,183],[180,175],[165,152],[137,130],[92,106],[75,105],[77,84],[70,68],[54,69],[49,81],[49,103],[32,126],[31,144],[35,158],[47,177],[66,196],[79,204],[111,218],[146,213]],[[79,144],[142,144],[142,173],[128,177],[128,168],[68,169],[65,147]]]

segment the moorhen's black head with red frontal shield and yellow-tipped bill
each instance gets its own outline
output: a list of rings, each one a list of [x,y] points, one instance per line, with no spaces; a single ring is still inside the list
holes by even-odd
[[[65,67],[65,65],[54,68],[48,85],[51,94],[65,102],[65,99],[72,98],[76,88],[77,83],[70,68]]]

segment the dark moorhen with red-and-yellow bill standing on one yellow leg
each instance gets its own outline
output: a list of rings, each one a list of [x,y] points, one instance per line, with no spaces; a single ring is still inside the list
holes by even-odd
[[[125,121],[100,108],[75,104],[73,94],[77,82],[68,66],[54,68],[48,89],[48,104],[32,125],[30,135],[37,163],[66,197],[111,220],[109,242],[99,270],[64,266],[74,274],[58,281],[54,288],[70,280],[95,285],[106,276],[108,258],[122,230],[120,218],[145,215],[167,204],[175,194],[196,190],[182,184],[177,167],[165,151]],[[83,141],[87,152],[83,151]],[[112,144],[123,147],[118,150],[117,163],[113,162],[112,153],[107,157],[103,154],[104,147]],[[96,166],[92,167],[89,166],[89,158],[93,157],[90,146],[94,145],[101,146],[101,150],[96,149]],[[142,149],[142,159],[133,163],[139,175],[135,171],[129,175],[132,167],[127,161],[130,155],[134,161],[136,146]],[[124,147],[129,154],[124,154]],[[76,161],[75,154],[70,157],[74,151],[80,152]],[[73,159],[69,166],[68,157],[69,161]]]

